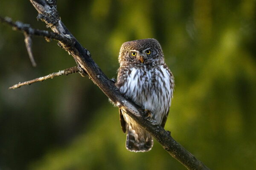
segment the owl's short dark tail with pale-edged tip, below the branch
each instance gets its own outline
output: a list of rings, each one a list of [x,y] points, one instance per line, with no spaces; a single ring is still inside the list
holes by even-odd
[[[145,130],[136,133],[134,129],[129,127],[126,137],[126,149],[131,152],[147,152],[153,147],[152,136]]]

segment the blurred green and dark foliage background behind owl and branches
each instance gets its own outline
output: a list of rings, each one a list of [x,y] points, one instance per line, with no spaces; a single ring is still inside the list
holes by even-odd
[[[156,38],[175,76],[166,129],[212,170],[256,168],[256,0],[58,0],[61,19],[108,77],[125,41]],[[47,29],[29,0],[0,0],[0,15]],[[0,170],[185,170],[155,141],[125,149],[118,109],[87,77],[8,87],[76,65],[0,24]]]

